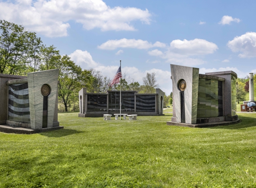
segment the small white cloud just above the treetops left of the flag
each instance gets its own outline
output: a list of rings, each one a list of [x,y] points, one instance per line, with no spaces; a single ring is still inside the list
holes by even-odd
[[[75,52],[71,53],[69,57],[76,63],[76,65],[80,65],[83,69],[95,68],[100,65],[93,61],[91,54],[86,50],[82,51],[77,49]]]

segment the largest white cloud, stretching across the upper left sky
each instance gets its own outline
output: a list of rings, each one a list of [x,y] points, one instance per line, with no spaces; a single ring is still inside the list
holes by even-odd
[[[132,21],[150,24],[151,13],[139,8],[110,8],[102,0],[16,0],[0,2],[0,19],[22,24],[46,37],[67,36],[70,20],[84,29],[136,30]]]

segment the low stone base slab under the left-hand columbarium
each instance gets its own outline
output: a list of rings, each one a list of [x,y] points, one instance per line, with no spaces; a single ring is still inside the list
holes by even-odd
[[[63,126],[59,126],[59,127],[50,127],[50,128],[33,130],[33,129],[23,128],[23,127],[0,125],[0,132],[30,135],[30,134],[36,134],[36,133],[41,133],[46,131],[54,131],[54,130],[63,129],[63,128],[64,128]]]

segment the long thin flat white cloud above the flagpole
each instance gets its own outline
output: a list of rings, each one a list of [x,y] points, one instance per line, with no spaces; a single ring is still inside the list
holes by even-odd
[[[107,49],[107,50],[113,50],[117,48],[149,49],[153,47],[164,48],[165,44],[157,41],[155,42],[155,44],[152,45],[152,43],[148,41],[143,41],[141,39],[135,40],[135,39],[123,38],[120,40],[109,40],[101,44],[100,46],[98,46],[99,49]]]

